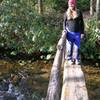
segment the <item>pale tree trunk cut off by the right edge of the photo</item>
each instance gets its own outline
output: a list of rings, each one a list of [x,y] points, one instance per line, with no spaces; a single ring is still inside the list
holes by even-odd
[[[97,28],[100,29],[100,0],[97,0],[96,2],[96,21],[97,21]]]

